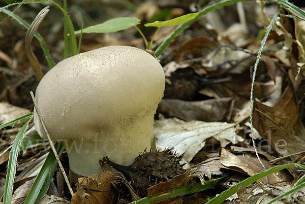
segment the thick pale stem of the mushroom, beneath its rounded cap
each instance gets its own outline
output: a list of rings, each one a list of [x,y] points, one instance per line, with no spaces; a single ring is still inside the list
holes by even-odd
[[[81,176],[92,176],[103,172],[99,160],[105,156],[117,164],[128,166],[153,142],[154,118],[146,116],[133,127],[111,128],[112,131],[98,132],[94,140],[63,141],[69,157],[70,169]]]

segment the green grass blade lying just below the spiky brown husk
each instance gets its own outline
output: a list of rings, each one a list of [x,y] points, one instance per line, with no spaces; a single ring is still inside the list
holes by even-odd
[[[187,186],[181,186],[178,188],[170,189],[170,190],[164,191],[162,193],[158,193],[156,195],[151,195],[151,196],[142,198],[140,200],[136,200],[134,202],[131,202],[130,204],[153,203],[153,202],[158,202],[158,201],[165,200],[168,198],[173,198],[173,197],[178,197],[178,196],[187,195],[187,194],[191,194],[191,193],[196,193],[199,191],[204,191],[204,190],[214,187],[221,179],[222,178],[205,181],[204,185],[202,185],[201,183],[196,183],[196,184],[191,184],[191,185],[187,185]]]

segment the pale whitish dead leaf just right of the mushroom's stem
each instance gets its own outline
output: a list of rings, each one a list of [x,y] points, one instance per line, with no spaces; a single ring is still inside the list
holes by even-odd
[[[242,142],[234,127],[235,124],[226,122],[185,122],[176,118],[158,120],[154,128],[156,147],[159,150],[172,147],[173,152],[184,155],[182,160],[191,161],[208,138],[214,137],[222,147]]]

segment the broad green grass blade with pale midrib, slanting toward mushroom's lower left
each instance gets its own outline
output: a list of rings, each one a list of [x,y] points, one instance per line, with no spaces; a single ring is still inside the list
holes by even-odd
[[[55,148],[57,150],[58,156],[60,157],[65,150],[64,145],[62,143],[56,143]],[[28,195],[24,200],[25,204],[38,203],[39,200],[46,194],[57,165],[58,163],[56,161],[55,155],[52,151],[50,151],[48,157],[46,158],[44,164],[42,165],[39,174],[37,175],[34,181],[33,186],[29,190]]]

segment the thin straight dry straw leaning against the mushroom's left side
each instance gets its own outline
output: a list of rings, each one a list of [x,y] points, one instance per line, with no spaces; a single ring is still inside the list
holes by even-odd
[[[67,185],[68,185],[68,188],[69,188],[69,190],[70,190],[70,193],[71,193],[71,195],[73,196],[74,193],[73,193],[73,190],[72,190],[72,188],[71,188],[69,179],[68,179],[68,177],[67,177],[67,175],[66,175],[66,173],[65,173],[65,169],[64,169],[64,167],[63,167],[63,165],[62,165],[62,162],[60,162],[60,160],[59,160],[58,154],[57,154],[56,149],[55,149],[55,147],[54,147],[54,144],[53,144],[53,142],[52,142],[52,140],[51,140],[51,138],[50,138],[50,135],[49,135],[49,132],[48,132],[48,130],[47,130],[47,127],[46,127],[45,123],[43,122],[43,119],[42,119],[42,117],[41,117],[40,111],[39,111],[39,109],[38,109],[38,107],[37,107],[37,104],[36,104],[36,100],[35,100],[34,93],[33,93],[33,91],[31,91],[30,93],[31,93],[31,97],[32,97],[32,100],[33,100],[34,107],[35,107],[35,109],[36,109],[38,118],[39,118],[39,120],[40,120],[40,122],[41,122],[41,124],[42,124],[43,130],[44,130],[44,132],[45,132],[46,135],[47,135],[47,138],[48,138],[48,140],[49,140],[49,142],[50,142],[50,145],[51,145],[51,148],[52,148],[52,150],[53,150],[53,153],[54,153],[54,155],[55,155],[55,157],[56,157],[56,160],[57,160],[57,162],[58,162],[59,168],[60,168],[60,170],[62,171],[63,176],[64,176],[64,178],[65,178],[65,181],[66,181],[66,183],[67,183]]]

